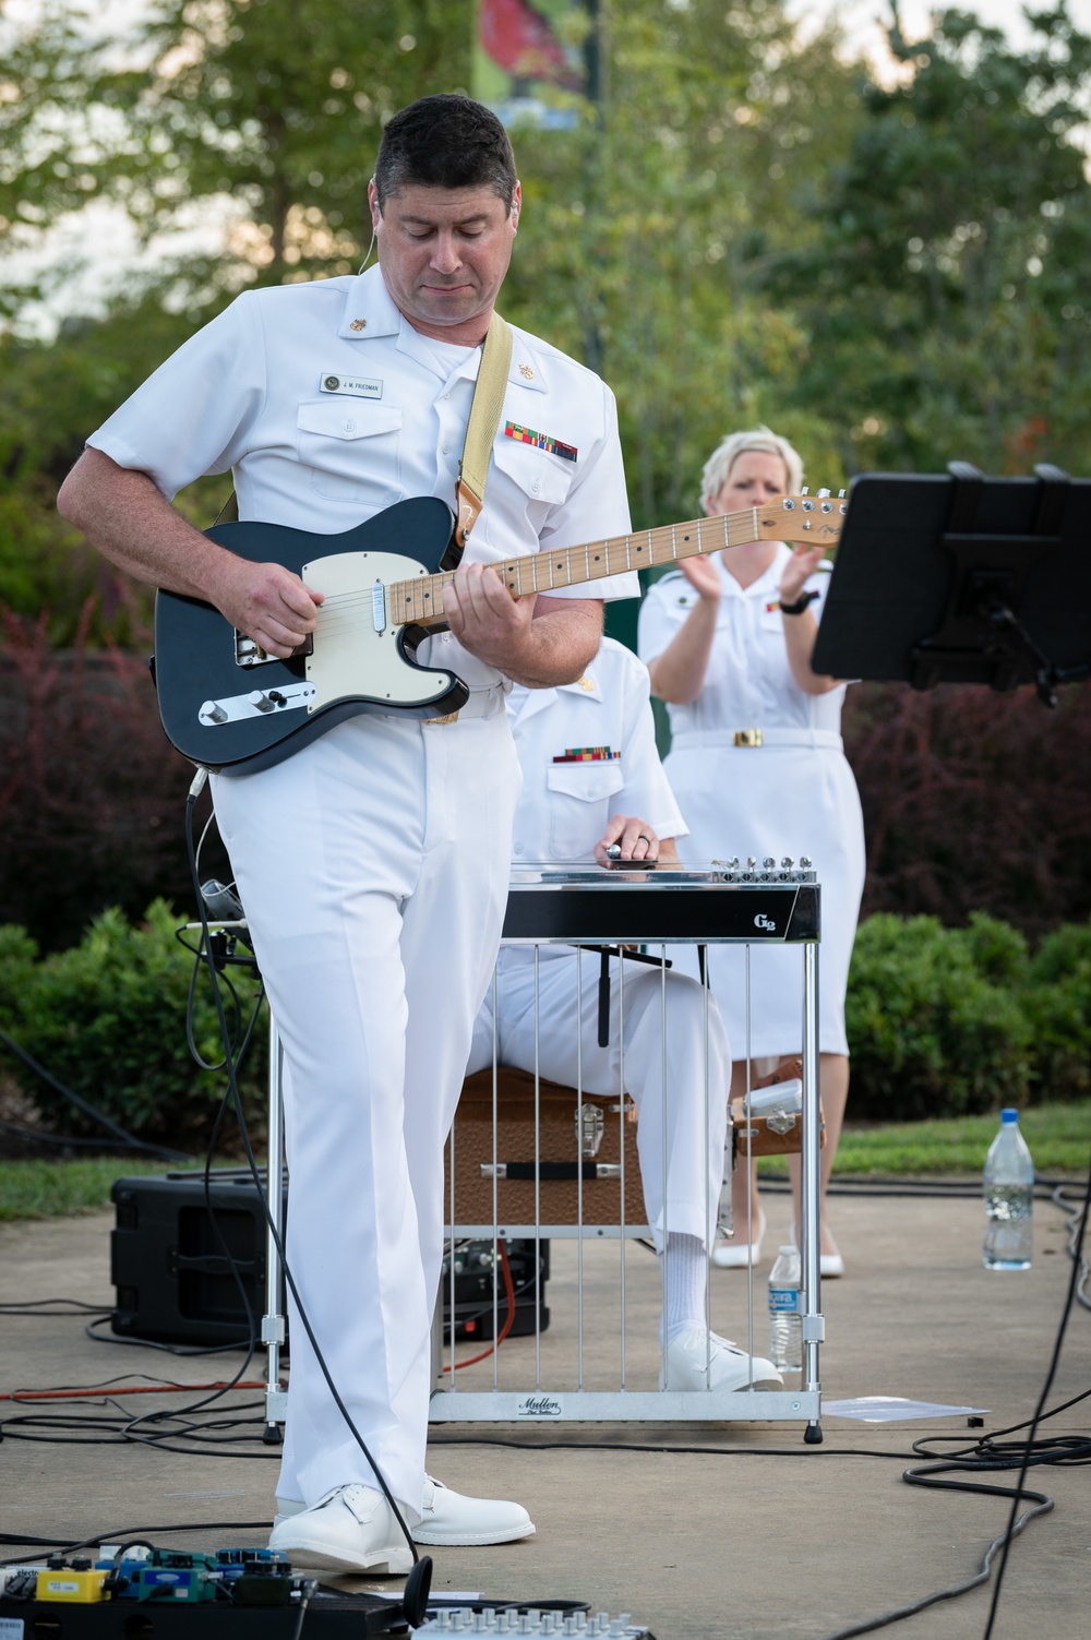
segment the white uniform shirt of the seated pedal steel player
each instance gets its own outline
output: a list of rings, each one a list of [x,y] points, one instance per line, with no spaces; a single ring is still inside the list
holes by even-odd
[[[591,859],[612,815],[638,815],[658,836],[684,836],[655,743],[648,669],[604,638],[574,684],[517,686],[507,699],[523,792],[515,810],[515,864]],[[607,746],[596,763],[556,763],[577,746]],[[553,950],[553,948],[545,948]]]

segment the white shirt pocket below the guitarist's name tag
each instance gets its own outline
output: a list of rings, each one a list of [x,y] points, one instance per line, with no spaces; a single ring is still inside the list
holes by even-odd
[[[295,418],[297,451],[315,495],[372,510],[402,499],[402,412],[348,395],[310,399]]]

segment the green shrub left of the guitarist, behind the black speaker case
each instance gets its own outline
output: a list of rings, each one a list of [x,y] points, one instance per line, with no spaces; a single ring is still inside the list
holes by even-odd
[[[194,959],[174,938],[177,918],[162,900],[141,927],[116,909],[103,912],[77,946],[33,963],[18,930],[0,943],[0,1005],[16,976],[18,1004],[5,1028],[61,1082],[133,1133],[192,1145],[208,1132],[226,1077],[202,1071],[185,1041],[185,1005]],[[28,956],[31,959],[28,961]],[[253,984],[240,987],[243,1007]],[[228,1010],[231,1020],[231,1012]],[[221,1055],[207,976],[199,976],[194,1038],[205,1061]],[[46,1118],[61,1132],[100,1135],[41,1077],[5,1056]],[[243,1074],[251,1110],[261,1110],[264,1032]]]

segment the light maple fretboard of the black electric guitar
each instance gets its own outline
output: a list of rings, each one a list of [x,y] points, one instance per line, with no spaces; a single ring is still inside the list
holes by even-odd
[[[551,592],[555,587],[573,587],[584,581],[600,581],[604,576],[622,576],[630,569],[678,563],[699,553],[722,553],[725,546],[742,546],[745,541],[778,540],[778,518],[769,518],[768,507],[748,507],[745,512],[720,513],[715,518],[694,518],[689,523],[668,523],[658,530],[612,536],[609,541],[566,546],[556,553],[528,553],[527,558],[512,558],[492,567],[509,592],[522,599],[532,592]],[[387,587],[390,622],[395,626],[407,622],[431,626],[446,620],[443,589],[451,579],[453,571],[441,571],[436,576],[422,576],[418,581],[392,581]]]

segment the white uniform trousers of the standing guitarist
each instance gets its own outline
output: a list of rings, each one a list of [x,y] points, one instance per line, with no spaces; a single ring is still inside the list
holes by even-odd
[[[522,776],[491,717],[359,717],[215,807],[285,1058],[287,1260],[390,1491],[420,1519],[443,1141],[492,974]],[[289,1302],[277,1494],[374,1476]]]

